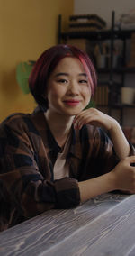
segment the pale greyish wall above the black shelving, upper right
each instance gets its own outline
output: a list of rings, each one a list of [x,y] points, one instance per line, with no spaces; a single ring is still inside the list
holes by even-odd
[[[74,0],[74,14],[97,14],[110,27],[112,11],[116,20],[121,14],[127,14],[135,9],[135,0]]]

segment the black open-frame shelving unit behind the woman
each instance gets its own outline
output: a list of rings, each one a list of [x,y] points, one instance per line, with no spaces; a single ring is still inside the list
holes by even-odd
[[[135,30],[121,30],[115,28],[115,13],[112,12],[112,27],[111,29],[96,30],[96,31],[61,31],[62,16],[58,16],[58,43],[67,43],[69,40],[85,40],[85,41],[109,41],[110,44],[110,59],[109,67],[97,68],[98,88],[94,95],[94,101],[97,107],[105,107],[107,114],[112,115],[114,109],[119,110],[120,123],[123,123],[123,111],[125,108],[134,108],[135,104],[121,103],[121,87],[125,86],[126,75],[135,75],[135,65],[126,66],[126,50],[127,41],[135,33]],[[114,61],[114,43],[116,40],[121,41],[122,55],[121,63],[117,67],[113,67]],[[103,78],[102,78],[103,77]],[[119,77],[115,79],[115,77]],[[135,87],[135,86],[134,86]]]

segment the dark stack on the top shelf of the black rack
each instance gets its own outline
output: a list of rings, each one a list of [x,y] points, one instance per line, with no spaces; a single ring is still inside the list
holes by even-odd
[[[96,14],[69,16],[69,32],[98,31],[106,27],[106,22]]]

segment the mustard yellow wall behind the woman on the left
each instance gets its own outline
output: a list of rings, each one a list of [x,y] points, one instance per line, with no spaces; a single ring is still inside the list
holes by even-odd
[[[15,78],[16,65],[36,60],[58,42],[58,14],[64,28],[74,0],[0,0],[0,122],[14,112],[31,112],[32,96],[23,95]]]

